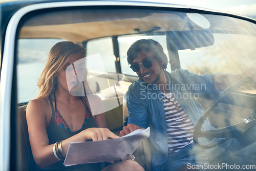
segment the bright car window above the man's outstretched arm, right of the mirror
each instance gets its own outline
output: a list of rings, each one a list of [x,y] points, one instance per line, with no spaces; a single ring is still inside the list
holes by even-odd
[[[214,34],[215,44],[195,50],[180,50],[181,68],[198,74],[242,73],[253,61],[256,37],[241,34]]]

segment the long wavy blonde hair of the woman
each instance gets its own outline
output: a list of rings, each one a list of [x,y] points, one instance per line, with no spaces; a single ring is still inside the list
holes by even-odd
[[[57,88],[57,78],[55,75],[65,66],[70,57],[77,53],[86,57],[86,49],[71,41],[61,41],[52,47],[46,66],[37,82],[39,93],[36,98],[45,98],[55,92]],[[86,84],[84,86],[87,89],[87,92],[91,92],[88,85],[88,79],[86,79]]]

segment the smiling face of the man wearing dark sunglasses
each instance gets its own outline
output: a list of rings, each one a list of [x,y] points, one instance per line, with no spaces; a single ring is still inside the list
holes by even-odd
[[[158,80],[161,76],[161,72],[163,74],[162,65],[160,65],[159,61],[157,60],[154,52],[139,52],[137,57],[133,60],[133,65],[136,63],[140,63],[140,71],[136,72],[136,74],[148,84],[158,83]],[[154,59],[153,59],[154,58]],[[153,59],[152,60],[152,67],[145,68],[141,62]]]

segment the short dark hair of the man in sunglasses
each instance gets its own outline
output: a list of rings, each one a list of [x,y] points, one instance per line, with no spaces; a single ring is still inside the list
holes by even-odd
[[[133,64],[133,60],[140,52],[154,52],[158,61],[163,62],[163,70],[167,68],[167,56],[163,52],[163,47],[159,42],[153,39],[140,39],[135,41],[127,51],[127,61],[130,65]]]

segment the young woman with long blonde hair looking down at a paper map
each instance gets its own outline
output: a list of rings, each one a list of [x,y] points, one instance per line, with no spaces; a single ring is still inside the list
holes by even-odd
[[[38,170],[100,170],[100,163],[65,167],[69,143],[118,138],[105,128],[101,99],[90,94],[85,56],[86,50],[70,41],[53,46],[38,80],[39,94],[27,106],[30,145]],[[143,170],[132,160],[103,170],[129,169]]]

